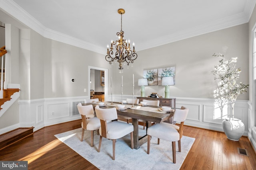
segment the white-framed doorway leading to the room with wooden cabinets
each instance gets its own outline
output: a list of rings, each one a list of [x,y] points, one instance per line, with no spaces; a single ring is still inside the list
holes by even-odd
[[[104,85],[102,84],[102,72],[104,72]],[[91,90],[94,90],[94,93],[104,92],[104,101],[108,101],[108,69],[88,66],[88,89],[89,96],[91,96]]]

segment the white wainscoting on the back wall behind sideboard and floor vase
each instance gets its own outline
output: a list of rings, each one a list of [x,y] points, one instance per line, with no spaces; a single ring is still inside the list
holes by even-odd
[[[134,96],[134,98],[136,97]],[[111,100],[111,96],[108,98]],[[132,98],[132,95],[122,96],[123,100],[126,100],[126,98]],[[121,95],[113,95],[113,102],[121,102]],[[176,97],[176,107],[180,108],[181,106],[189,109],[185,125],[222,132],[222,121],[225,117],[229,117],[231,112],[230,106],[225,106],[221,115],[220,108],[215,104],[215,100],[207,98]],[[248,100],[236,100],[234,106],[234,117],[241,119],[244,123],[244,136],[248,136],[248,107]]]

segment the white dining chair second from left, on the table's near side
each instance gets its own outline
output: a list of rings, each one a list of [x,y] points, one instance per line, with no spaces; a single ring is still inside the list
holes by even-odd
[[[98,152],[100,152],[102,137],[106,139],[112,139],[112,143],[113,143],[112,159],[115,160],[116,139],[120,139],[129,133],[131,137],[131,148],[134,149],[134,144],[133,144],[134,127],[131,124],[116,121],[117,112],[115,107],[110,109],[102,109],[99,106],[96,106],[95,111],[96,111],[97,117],[100,119],[100,124],[101,124],[101,127],[99,129],[100,142],[99,142]],[[111,121],[111,122],[108,122],[108,121]]]

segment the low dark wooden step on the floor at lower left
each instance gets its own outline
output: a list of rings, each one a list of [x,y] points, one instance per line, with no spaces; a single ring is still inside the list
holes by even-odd
[[[34,127],[22,127],[0,135],[0,150],[24,139],[25,137],[33,135],[33,129]]]

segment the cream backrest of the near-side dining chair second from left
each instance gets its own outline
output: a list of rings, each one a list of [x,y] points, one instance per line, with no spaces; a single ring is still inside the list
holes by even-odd
[[[95,106],[95,112],[96,112],[96,116],[100,120],[108,121],[108,120],[115,120],[118,118],[115,107],[110,109],[102,109],[99,106]]]

